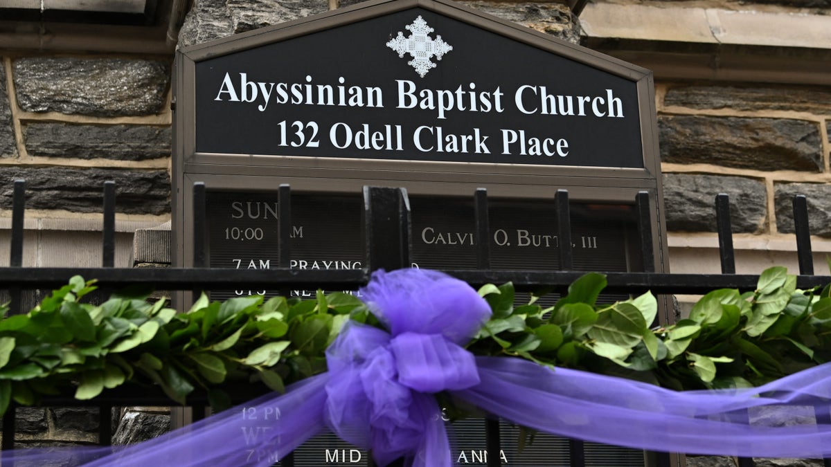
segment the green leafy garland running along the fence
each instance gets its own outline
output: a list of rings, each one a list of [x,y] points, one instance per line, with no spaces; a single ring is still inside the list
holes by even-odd
[[[602,274],[579,278],[551,307],[538,304],[542,294],[517,306],[512,284],[487,285],[479,294],[493,316],[468,348],[676,390],[755,386],[831,356],[831,287],[795,284],[784,268],[770,268],[755,291],[715,290],[686,319],[658,327],[656,297],[604,302]],[[0,320],[0,414],[11,401],[33,405],[70,391],[92,399],[128,381],[159,386],[180,404],[207,391],[221,408],[230,404],[229,385],[284,391],[326,371],[326,348],[348,320],[376,323],[342,292],[224,302],[203,295],[179,313],[147,291],[81,302],[95,289],[74,277],[31,312]]]

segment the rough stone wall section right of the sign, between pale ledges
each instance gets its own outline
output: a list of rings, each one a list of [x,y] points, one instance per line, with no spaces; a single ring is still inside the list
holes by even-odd
[[[715,232],[713,196],[726,193],[734,232],[792,234],[805,194],[812,234],[831,237],[831,90],[666,82],[656,95],[667,229]]]

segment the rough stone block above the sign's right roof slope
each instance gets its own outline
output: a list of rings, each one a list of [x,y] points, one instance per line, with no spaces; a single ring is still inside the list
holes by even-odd
[[[580,41],[580,22],[571,9],[561,3],[461,2],[495,17],[517,22],[538,32],[576,44]]]

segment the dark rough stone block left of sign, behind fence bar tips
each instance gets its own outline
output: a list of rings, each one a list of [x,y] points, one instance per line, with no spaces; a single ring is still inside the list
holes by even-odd
[[[0,166],[0,209],[11,209],[15,179],[27,182],[27,209],[101,212],[104,182],[112,180],[116,182],[116,211],[170,212],[170,177],[166,170]]]

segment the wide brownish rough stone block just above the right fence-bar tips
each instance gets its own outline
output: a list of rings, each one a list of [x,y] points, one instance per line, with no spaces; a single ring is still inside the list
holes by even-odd
[[[661,160],[754,170],[823,170],[819,125],[775,118],[661,116]]]

